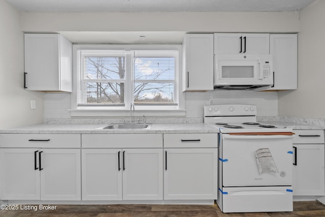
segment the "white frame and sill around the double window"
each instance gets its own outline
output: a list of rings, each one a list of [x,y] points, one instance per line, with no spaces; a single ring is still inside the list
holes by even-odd
[[[77,51],[78,50],[178,50],[178,105],[136,105],[136,116],[148,115],[148,116],[185,116],[185,100],[184,93],[182,92],[182,45],[160,45],[160,44],[141,44],[141,45],[107,45],[107,44],[74,44],[73,45],[73,92],[71,95],[71,116],[83,116],[83,117],[95,117],[95,116],[125,116],[129,115],[130,105],[133,103],[133,96],[126,94],[124,96],[124,106],[82,106],[77,103],[77,86],[80,80],[78,80],[78,67],[77,67]],[[126,55],[125,63],[132,61],[133,55]],[[127,72],[133,70],[133,66],[125,64],[125,92],[133,92],[134,80]]]

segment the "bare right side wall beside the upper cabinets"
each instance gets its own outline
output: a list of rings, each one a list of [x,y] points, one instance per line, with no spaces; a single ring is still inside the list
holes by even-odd
[[[300,12],[298,89],[279,92],[279,115],[325,118],[325,1]]]

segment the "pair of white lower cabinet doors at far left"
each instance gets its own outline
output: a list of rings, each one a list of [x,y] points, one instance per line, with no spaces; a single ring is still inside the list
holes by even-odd
[[[0,148],[0,200],[80,200],[80,149]]]

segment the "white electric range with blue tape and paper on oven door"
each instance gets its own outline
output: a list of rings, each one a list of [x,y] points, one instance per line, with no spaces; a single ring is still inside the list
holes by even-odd
[[[293,211],[292,129],[256,122],[255,105],[204,106],[204,122],[219,130],[221,211]]]

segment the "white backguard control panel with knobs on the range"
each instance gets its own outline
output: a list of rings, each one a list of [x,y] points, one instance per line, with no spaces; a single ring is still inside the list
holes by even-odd
[[[255,105],[222,104],[204,106],[204,116],[256,115]]]

